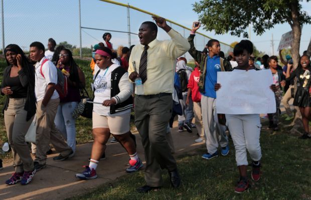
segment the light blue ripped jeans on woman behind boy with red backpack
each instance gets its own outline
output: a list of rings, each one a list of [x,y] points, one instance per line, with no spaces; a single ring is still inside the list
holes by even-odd
[[[76,120],[72,117],[72,112],[78,102],[60,103],[55,116],[56,128],[63,134],[68,146],[76,152]]]

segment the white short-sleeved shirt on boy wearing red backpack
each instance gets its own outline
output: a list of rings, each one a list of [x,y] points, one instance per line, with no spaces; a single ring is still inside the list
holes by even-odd
[[[44,65],[42,66],[42,73],[45,78],[40,73],[41,64],[46,59],[47,59],[46,57],[43,57],[41,61],[36,63],[35,66],[36,68],[35,94],[37,101],[43,100],[49,83],[57,84],[57,70],[55,65],[50,60],[45,62]],[[54,90],[51,99],[57,98],[59,98],[59,95],[57,91]]]

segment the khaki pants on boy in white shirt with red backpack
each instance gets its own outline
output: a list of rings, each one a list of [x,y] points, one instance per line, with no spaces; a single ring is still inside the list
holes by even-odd
[[[72,152],[59,130],[55,127],[54,119],[59,104],[58,99],[51,99],[47,106],[42,105],[42,101],[37,103],[37,129],[36,129],[36,162],[45,164],[50,142],[62,156],[67,156]]]

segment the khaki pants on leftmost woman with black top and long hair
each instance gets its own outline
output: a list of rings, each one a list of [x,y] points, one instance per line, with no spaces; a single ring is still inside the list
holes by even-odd
[[[34,117],[26,121],[25,103],[26,98],[12,98],[8,109],[5,111],[5,124],[13,153],[13,166],[15,171],[19,173],[34,170],[34,161],[25,141],[25,135]]]

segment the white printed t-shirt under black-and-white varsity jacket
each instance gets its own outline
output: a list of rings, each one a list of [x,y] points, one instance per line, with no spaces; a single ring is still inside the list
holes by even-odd
[[[100,70],[96,79],[94,80],[94,102],[102,103],[105,100],[110,100],[110,92],[111,92],[111,72],[118,68],[119,65],[112,64],[110,67],[104,70]],[[96,75],[99,68],[95,68],[94,74]],[[107,116],[110,114],[110,106],[103,106],[101,104],[94,103],[93,111],[99,115]]]

